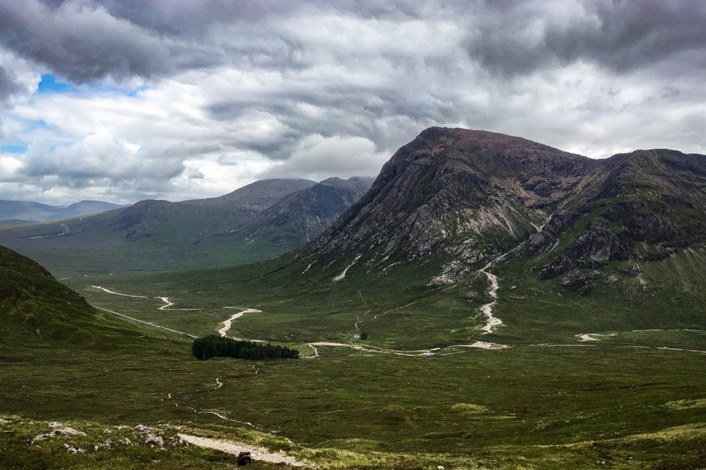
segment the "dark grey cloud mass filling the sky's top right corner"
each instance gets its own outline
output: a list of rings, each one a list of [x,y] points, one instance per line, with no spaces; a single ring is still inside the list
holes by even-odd
[[[689,51],[698,51],[700,62],[688,68],[706,64],[706,2],[582,1],[569,16],[554,16],[554,4],[488,4],[467,49],[501,75],[579,60],[626,73]]]

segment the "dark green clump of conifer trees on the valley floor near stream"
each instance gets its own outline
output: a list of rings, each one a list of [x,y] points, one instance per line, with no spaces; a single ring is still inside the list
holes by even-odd
[[[219,335],[209,335],[193,340],[191,354],[205,361],[208,358],[234,357],[239,359],[299,358],[297,349],[286,346],[240,341]]]

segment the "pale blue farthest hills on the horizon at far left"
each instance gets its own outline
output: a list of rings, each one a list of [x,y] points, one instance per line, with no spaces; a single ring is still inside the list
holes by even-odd
[[[30,201],[0,200],[0,223],[31,224],[32,222],[47,222],[49,220],[66,219],[79,215],[95,214],[106,210],[126,207],[105,203],[100,200],[82,200],[66,206],[32,203]]]

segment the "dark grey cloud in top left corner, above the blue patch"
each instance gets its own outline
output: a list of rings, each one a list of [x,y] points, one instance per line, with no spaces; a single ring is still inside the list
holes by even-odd
[[[90,4],[0,1],[0,44],[75,83],[150,77],[173,68],[162,38]]]

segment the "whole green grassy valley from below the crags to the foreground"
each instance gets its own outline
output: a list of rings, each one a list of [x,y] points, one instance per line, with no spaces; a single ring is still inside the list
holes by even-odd
[[[354,265],[333,282],[349,263],[316,263],[301,274],[310,262],[295,253],[215,272],[92,275],[91,285],[140,296],[75,282],[95,306],[191,335],[214,333],[239,308],[253,307],[262,312],[234,320],[229,336],[286,344],[304,356],[315,347],[318,356],[197,361],[188,337],[127,323],[150,337],[133,339],[145,349],[90,358],[54,351],[41,363],[35,354],[15,356],[9,382],[26,378],[31,364],[40,372],[35,390],[43,392],[40,400],[30,393],[4,403],[33,419],[169,423],[251,443],[287,438],[292,455],[326,468],[698,468],[706,444],[706,353],[695,351],[706,349],[706,325],[697,308],[685,308],[698,306],[698,296],[657,282],[660,270],[676,266],[693,275],[690,256],[642,264],[650,287],[623,276],[597,283],[590,296],[558,282],[529,282],[530,266],[508,263],[496,270],[495,314],[503,326],[491,335],[482,335],[479,313],[488,301],[486,279],[426,287],[433,273],[423,266],[372,273]],[[304,286],[316,288],[300,295]],[[616,291],[625,305],[614,304]],[[676,310],[680,294],[680,314],[664,315]],[[160,310],[167,303],[156,297],[164,296],[173,305]],[[679,331],[635,331],[661,329]],[[369,338],[355,339],[363,330]],[[605,336],[575,337],[590,333]],[[453,347],[475,341],[509,347]],[[379,349],[306,347],[314,342]],[[444,349],[429,357],[388,351],[436,347]],[[80,411],[66,397],[82,403]]]

